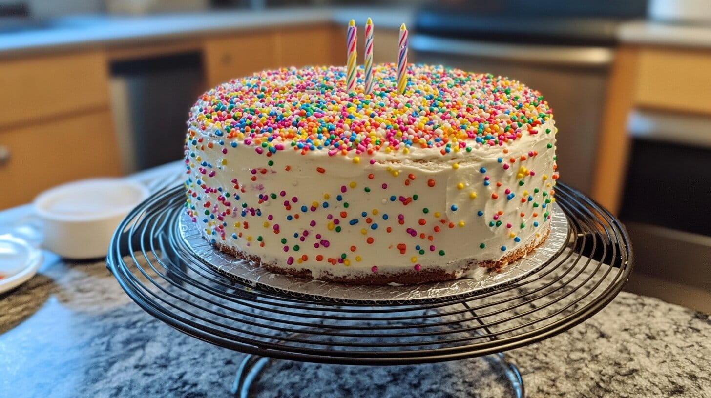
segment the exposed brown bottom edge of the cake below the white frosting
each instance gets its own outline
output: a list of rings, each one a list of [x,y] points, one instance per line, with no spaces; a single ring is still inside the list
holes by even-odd
[[[296,276],[304,279],[317,279],[319,281],[330,281],[330,282],[341,282],[346,284],[360,284],[360,285],[387,285],[387,284],[424,284],[428,282],[442,282],[449,281],[452,279],[459,279],[466,275],[467,271],[476,268],[486,268],[491,271],[500,272],[507,264],[515,262],[516,260],[524,257],[526,254],[533,252],[536,247],[539,247],[543,242],[545,242],[550,235],[550,225],[546,230],[540,235],[540,237],[534,237],[527,244],[522,247],[513,250],[505,257],[493,261],[488,260],[484,262],[476,262],[476,259],[471,259],[464,262],[463,266],[459,266],[456,269],[444,269],[442,267],[433,267],[428,269],[422,269],[420,271],[405,270],[392,273],[373,273],[373,274],[351,274],[346,276],[336,276],[328,271],[321,272],[321,274],[314,278],[311,270],[309,269],[296,269],[294,267],[279,267],[276,264],[270,264],[263,262],[262,259],[254,254],[247,254],[242,252],[235,247],[230,247],[227,244],[215,242],[213,246],[225,252],[231,254],[238,259],[250,262],[255,267],[260,267],[266,269],[269,272],[274,272],[275,274],[286,274],[291,276]]]

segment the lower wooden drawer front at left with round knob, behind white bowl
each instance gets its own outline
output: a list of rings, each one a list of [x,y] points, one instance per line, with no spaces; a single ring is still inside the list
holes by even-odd
[[[28,203],[47,188],[120,173],[108,110],[0,131],[9,160],[0,163],[0,209]]]

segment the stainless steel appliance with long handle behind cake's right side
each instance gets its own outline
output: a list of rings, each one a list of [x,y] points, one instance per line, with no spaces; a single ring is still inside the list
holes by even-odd
[[[559,129],[562,181],[589,194],[616,26],[646,12],[643,1],[606,3],[503,0],[425,6],[415,18],[410,47],[419,63],[508,76],[539,90]]]

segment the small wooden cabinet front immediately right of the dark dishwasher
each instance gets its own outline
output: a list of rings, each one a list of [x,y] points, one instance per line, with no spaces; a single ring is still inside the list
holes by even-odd
[[[205,41],[203,57],[208,85],[279,67],[276,32],[241,33],[230,38]]]

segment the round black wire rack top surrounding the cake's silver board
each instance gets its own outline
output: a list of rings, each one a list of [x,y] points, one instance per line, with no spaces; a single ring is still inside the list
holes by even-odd
[[[230,279],[196,259],[182,241],[182,187],[129,214],[107,264],[151,315],[242,353],[348,365],[459,360],[572,328],[606,306],[627,280],[632,252],[619,221],[564,184],[557,185],[556,198],[570,225],[563,249],[520,281],[447,301],[343,304]]]

